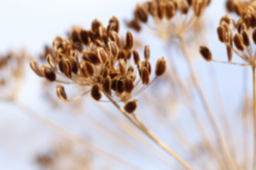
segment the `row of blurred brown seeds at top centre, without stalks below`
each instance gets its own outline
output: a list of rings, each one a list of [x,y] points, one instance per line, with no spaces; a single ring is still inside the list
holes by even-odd
[[[149,16],[155,20],[167,21],[178,14],[188,14],[193,10],[193,16],[199,17],[204,8],[210,4],[210,0],[151,0],[138,5],[134,10],[134,19],[128,23],[130,28],[141,30],[140,23],[148,22]]]

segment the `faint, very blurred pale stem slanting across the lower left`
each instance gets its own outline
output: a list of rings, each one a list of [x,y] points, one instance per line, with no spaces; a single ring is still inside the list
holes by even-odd
[[[110,154],[109,152],[105,151],[104,149],[101,149],[100,147],[96,147],[96,146],[92,145],[90,142],[83,140],[81,137],[78,137],[77,135],[66,130],[65,128],[60,127],[60,125],[57,125],[52,120],[49,120],[48,118],[44,117],[43,115],[35,113],[34,111],[32,111],[30,108],[27,108],[26,106],[23,106],[21,103],[18,103],[16,101],[16,102],[14,102],[14,104],[18,108],[20,108],[21,111],[26,113],[29,117],[33,118],[34,120],[37,120],[39,123],[42,123],[43,125],[46,125],[47,128],[49,128],[50,130],[53,130],[53,132],[55,132],[57,135],[60,135],[60,137],[63,137],[65,140],[68,140],[69,142],[73,143],[74,145],[80,145],[80,147],[88,150],[89,152],[99,154],[100,156],[104,157],[105,159],[110,159],[110,161],[114,161],[115,163],[122,164],[131,169],[139,169],[139,168],[137,168],[137,166],[130,164],[126,160],[121,159],[120,157],[116,157],[114,154]]]

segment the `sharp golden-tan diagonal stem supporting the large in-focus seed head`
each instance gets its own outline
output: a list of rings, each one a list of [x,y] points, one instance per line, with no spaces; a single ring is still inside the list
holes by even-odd
[[[180,162],[186,169],[188,170],[193,170],[192,167],[185,161],[183,160],[181,157],[178,156],[178,154],[176,154],[176,152],[174,152],[172,149],[170,149],[169,147],[167,147],[163,142],[161,142],[157,137],[154,136],[154,134],[149,131],[147,128],[145,128],[144,126],[142,126],[140,123],[138,123],[137,121],[135,121],[134,119],[132,119],[125,111],[123,108],[121,108],[117,102],[115,102],[111,96],[107,93],[105,93],[105,91],[103,91],[103,93],[105,94],[105,96],[107,96],[107,98],[114,104],[114,106],[131,122],[133,123],[137,128],[139,128],[139,130],[142,130],[142,132],[144,132],[145,135],[147,135],[149,138],[151,138],[151,140],[153,140],[154,142],[156,142],[157,145],[159,145],[159,147],[161,147],[162,149],[164,149],[167,153],[169,153],[172,157],[174,157],[178,162]]]

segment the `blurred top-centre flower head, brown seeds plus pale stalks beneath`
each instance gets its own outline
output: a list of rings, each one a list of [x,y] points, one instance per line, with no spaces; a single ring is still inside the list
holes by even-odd
[[[154,28],[161,38],[181,36],[185,34],[200,17],[210,0],[151,0],[138,5],[134,10],[134,19],[127,26],[141,30],[141,23],[148,23],[154,18]],[[182,17],[181,17],[182,16]],[[185,17],[184,17],[185,16]]]

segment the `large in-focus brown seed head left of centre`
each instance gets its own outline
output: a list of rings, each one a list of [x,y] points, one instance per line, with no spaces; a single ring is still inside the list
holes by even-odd
[[[31,68],[48,81],[89,86],[90,90],[84,94],[90,92],[96,101],[100,101],[102,92],[114,100],[128,101],[151,82],[150,50],[149,46],[144,48],[144,61],[141,61],[137,50],[132,50],[132,33],[128,31],[125,40],[121,40],[118,31],[119,21],[115,17],[110,19],[107,28],[97,19],[90,30],[73,28],[68,40],[57,37],[53,50],[46,48],[48,65],[39,67],[38,62],[32,60]],[[156,63],[155,76],[161,76],[165,70],[166,60],[161,57]],[[63,86],[57,86],[57,94],[63,101],[70,101]],[[129,113],[134,110],[129,103],[127,108]]]

